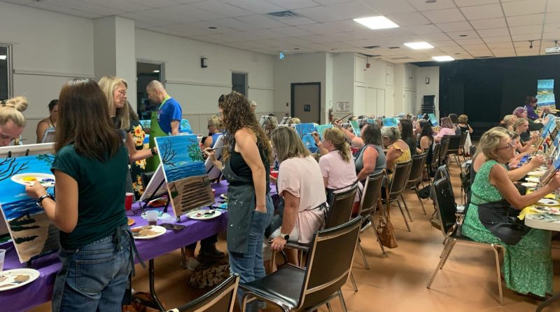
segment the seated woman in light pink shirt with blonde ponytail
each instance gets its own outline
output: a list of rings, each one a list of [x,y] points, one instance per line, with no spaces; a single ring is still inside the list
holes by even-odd
[[[323,182],[327,190],[327,203],[332,203],[335,192],[345,191],[358,181],[356,176],[356,165],[350,150],[350,145],[339,128],[326,129],[323,133],[323,142],[319,146],[327,151],[319,158],[319,168],[323,175]],[[356,199],[352,212],[358,213],[360,208],[360,192],[362,184],[358,183],[360,191],[356,193]]]

